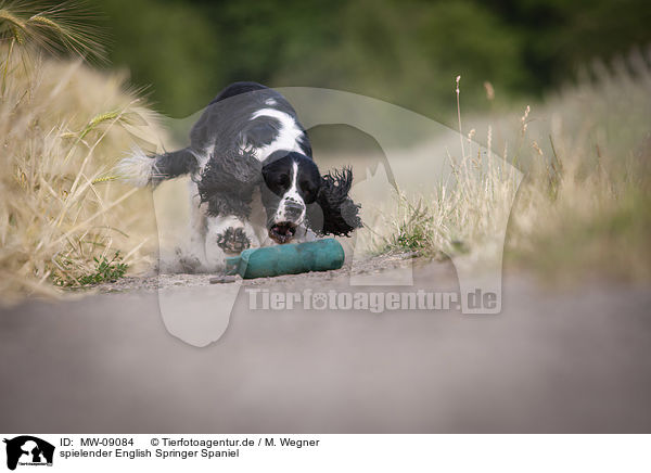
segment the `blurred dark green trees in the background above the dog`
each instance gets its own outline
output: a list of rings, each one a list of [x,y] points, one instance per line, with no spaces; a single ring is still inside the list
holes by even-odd
[[[649,0],[102,0],[112,61],[175,117],[228,82],[329,87],[433,118],[571,80],[651,42]]]

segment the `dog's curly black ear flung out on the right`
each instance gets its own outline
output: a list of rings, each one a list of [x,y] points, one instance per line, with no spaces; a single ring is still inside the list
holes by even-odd
[[[353,184],[349,167],[328,172],[321,177],[316,204],[308,209],[308,226],[318,234],[348,237],[361,227],[359,208],[348,196]]]

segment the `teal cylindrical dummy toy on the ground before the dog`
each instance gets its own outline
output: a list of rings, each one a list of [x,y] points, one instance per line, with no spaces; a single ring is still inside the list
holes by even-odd
[[[328,271],[344,266],[344,248],[334,239],[244,250],[226,258],[226,273],[244,279]]]

